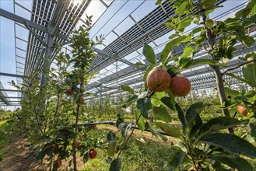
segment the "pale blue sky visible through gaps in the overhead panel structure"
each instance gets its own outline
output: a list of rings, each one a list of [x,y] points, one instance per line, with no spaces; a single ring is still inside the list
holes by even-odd
[[[32,10],[32,0],[19,0],[16,1],[16,3],[19,3],[20,5],[23,5],[26,9]],[[75,0],[75,2],[79,3],[81,1]],[[131,15],[133,19],[135,19],[136,22],[139,22],[140,19],[142,19],[144,16],[146,16],[149,12],[151,12],[153,9],[155,9],[157,6],[155,5],[156,1],[153,0],[115,0],[112,2],[112,0],[104,1],[107,5],[110,5],[110,7],[107,9],[100,1],[93,0],[90,4],[88,9],[86,9],[86,14],[88,16],[93,15],[93,29],[90,32],[90,37],[95,39],[96,35],[103,34],[106,36],[105,40],[103,41],[104,45],[110,44],[112,41],[117,39],[117,35],[114,34],[117,33],[118,35],[121,35],[126,30],[128,30],[130,27],[134,26],[135,23],[132,21],[128,15]],[[216,9],[216,12],[214,12],[211,17],[219,16],[223,12],[226,12],[229,9],[233,9],[233,7],[242,4],[246,1],[244,0],[227,0],[223,3],[224,7],[220,9]],[[27,12],[26,10],[19,7],[19,5],[14,5],[14,2],[12,0],[0,0],[0,8],[5,9],[9,12],[14,12],[16,15],[22,16],[23,18],[30,19],[30,12]],[[235,11],[234,11],[235,12]],[[233,13],[234,13],[233,12]],[[228,14],[225,18],[228,16],[233,16],[233,13]],[[82,15],[82,19],[85,19],[86,15]],[[220,18],[220,19],[225,19]],[[81,21],[77,24],[76,28],[82,24]],[[191,29],[193,26],[191,26],[189,29]],[[15,32],[16,28],[16,32]],[[114,32],[112,31],[114,30]],[[14,24],[14,22],[10,19],[5,19],[2,16],[0,16],[0,72],[5,73],[12,73],[12,74],[21,74],[19,72],[23,72],[22,69],[18,70],[18,73],[16,71],[16,54],[19,56],[26,56],[26,53],[22,50],[16,49],[16,47],[19,47],[20,49],[26,50],[27,44],[24,43],[21,40],[15,39],[15,33],[16,37],[22,38],[24,40],[27,40],[28,38],[28,31],[23,29],[23,27],[18,26]],[[155,43],[158,45],[156,47],[153,43],[149,44],[151,45],[155,53],[159,53],[163,50],[163,45],[167,43],[168,37],[170,36],[170,33],[167,33],[167,35],[164,35],[163,37],[158,38],[155,40]],[[105,46],[100,45],[97,46],[99,49],[103,49]],[[137,61],[142,61],[145,58],[142,56],[142,48],[140,48],[138,52],[133,52],[132,54],[128,54],[128,56],[124,57],[125,59],[132,61],[132,63],[135,63]],[[23,63],[24,61],[21,58],[17,58],[17,61]],[[122,69],[128,67],[128,65],[125,65],[118,61],[119,68]],[[23,68],[23,65],[17,65],[20,68]],[[100,71],[100,75],[97,77],[98,79],[103,78],[106,75],[110,75],[112,73],[116,72],[116,66],[115,64],[110,65],[109,67],[103,69]],[[98,79],[94,79],[91,82],[95,82]],[[12,86],[9,86],[10,81],[15,80],[16,78],[12,77],[6,77],[0,75],[0,81],[2,82],[5,89],[15,89]],[[18,96],[16,92],[8,92],[9,96]],[[16,99],[13,99],[16,100]]]

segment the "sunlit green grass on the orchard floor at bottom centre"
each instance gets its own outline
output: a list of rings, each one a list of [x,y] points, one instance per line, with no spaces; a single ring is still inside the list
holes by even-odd
[[[96,134],[102,134],[103,131]],[[107,137],[107,132],[104,132]],[[120,133],[117,133],[120,134]],[[118,135],[119,137],[119,135]],[[146,143],[141,143],[132,138],[128,141],[127,147],[122,152],[121,170],[166,170],[168,157],[171,153],[170,145],[163,145],[158,141],[145,139]],[[110,163],[104,149],[96,149],[95,159],[89,159],[82,171],[108,171]],[[117,157],[117,154],[115,155]],[[114,158],[113,158],[114,159]]]

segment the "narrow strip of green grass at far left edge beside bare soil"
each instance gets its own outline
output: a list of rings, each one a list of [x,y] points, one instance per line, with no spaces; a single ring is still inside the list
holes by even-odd
[[[8,120],[0,121],[0,161],[5,155],[5,146],[9,141],[9,133],[12,130],[12,124]]]

